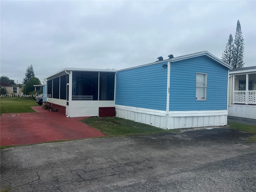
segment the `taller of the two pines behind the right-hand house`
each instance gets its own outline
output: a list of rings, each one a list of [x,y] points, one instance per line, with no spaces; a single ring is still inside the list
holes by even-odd
[[[234,40],[234,49],[232,52],[232,66],[233,68],[241,68],[244,66],[244,39],[242,36],[242,30],[240,21],[236,24],[236,35]]]

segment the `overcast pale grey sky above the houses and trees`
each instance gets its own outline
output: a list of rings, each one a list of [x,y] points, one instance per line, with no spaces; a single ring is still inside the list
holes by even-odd
[[[240,20],[256,65],[256,1],[0,1],[1,76],[22,83],[65,67],[123,69],[208,51],[221,58]]]

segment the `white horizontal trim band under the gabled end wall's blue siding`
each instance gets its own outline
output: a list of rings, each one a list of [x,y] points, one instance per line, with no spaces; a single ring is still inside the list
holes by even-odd
[[[207,110],[207,111],[170,111],[169,117],[196,117],[196,116],[218,116],[228,115],[228,110]]]

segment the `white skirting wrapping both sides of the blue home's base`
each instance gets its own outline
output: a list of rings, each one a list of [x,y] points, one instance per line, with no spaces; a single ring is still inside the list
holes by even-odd
[[[116,116],[159,128],[177,129],[227,125],[227,110],[166,111],[116,105]]]

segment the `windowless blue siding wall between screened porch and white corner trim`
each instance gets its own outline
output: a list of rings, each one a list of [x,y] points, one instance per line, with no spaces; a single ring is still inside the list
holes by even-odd
[[[167,62],[117,72],[116,104],[166,110]]]

